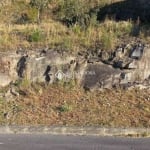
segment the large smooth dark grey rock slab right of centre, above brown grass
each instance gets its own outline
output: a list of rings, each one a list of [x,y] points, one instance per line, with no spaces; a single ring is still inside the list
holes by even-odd
[[[81,85],[86,89],[110,88],[120,71],[106,64],[88,64]]]

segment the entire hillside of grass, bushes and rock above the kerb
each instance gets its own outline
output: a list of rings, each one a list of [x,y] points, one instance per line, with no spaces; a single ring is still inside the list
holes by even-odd
[[[1,0],[0,125],[150,127],[148,2]]]

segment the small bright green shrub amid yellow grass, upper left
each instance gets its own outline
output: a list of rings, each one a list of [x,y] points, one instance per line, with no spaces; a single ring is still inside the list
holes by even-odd
[[[28,37],[29,42],[41,42],[44,40],[44,35],[41,30],[34,30]]]

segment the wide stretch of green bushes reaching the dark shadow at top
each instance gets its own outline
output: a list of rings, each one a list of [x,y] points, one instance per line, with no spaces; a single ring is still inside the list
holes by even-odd
[[[78,24],[82,27],[97,25],[97,13],[101,7],[109,4],[106,0],[59,0],[54,11],[58,20],[68,26]]]

